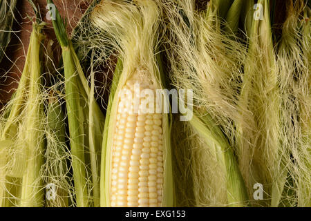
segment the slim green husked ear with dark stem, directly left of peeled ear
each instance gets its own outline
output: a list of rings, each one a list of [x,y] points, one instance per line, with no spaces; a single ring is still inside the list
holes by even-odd
[[[48,0],[48,3],[53,1]],[[57,10],[55,18],[53,26],[62,47],[64,61],[66,107],[77,206],[89,206],[92,201],[89,195],[93,195],[93,205],[100,206],[100,167],[97,164],[100,162],[104,115],[95,102],[94,90],[88,86],[73,44],[68,39],[66,28]],[[89,151],[86,151],[86,148],[89,148]],[[88,159],[90,162],[87,162]],[[87,184],[87,164],[91,165],[91,188],[88,188]]]

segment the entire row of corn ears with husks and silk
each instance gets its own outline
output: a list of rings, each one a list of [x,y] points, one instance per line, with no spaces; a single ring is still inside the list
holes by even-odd
[[[307,1],[281,36],[268,0],[95,0],[71,37],[55,9],[58,68],[30,3],[1,207],[311,206]],[[0,61],[15,4],[0,0]]]

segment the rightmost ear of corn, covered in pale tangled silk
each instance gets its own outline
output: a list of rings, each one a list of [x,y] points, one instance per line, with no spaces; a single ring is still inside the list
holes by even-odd
[[[304,9],[304,1],[289,1],[278,48],[282,169],[286,177],[283,189],[273,189],[272,197],[281,198],[272,198],[271,206],[310,205],[310,114],[306,111],[310,110],[310,21],[307,15],[302,16]]]

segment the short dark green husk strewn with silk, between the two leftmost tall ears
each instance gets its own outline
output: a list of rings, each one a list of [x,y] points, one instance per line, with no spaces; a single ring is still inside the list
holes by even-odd
[[[70,198],[70,180],[67,162],[70,159],[66,145],[66,125],[64,111],[59,97],[51,93],[46,111],[46,173],[44,181],[50,187],[47,207],[68,207]],[[69,191],[68,191],[69,190]]]

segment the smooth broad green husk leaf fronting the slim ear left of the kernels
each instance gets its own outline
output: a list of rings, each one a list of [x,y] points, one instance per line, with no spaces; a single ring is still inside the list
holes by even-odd
[[[77,68],[70,48],[63,48],[66,108],[70,133],[70,149],[73,155],[73,179],[78,207],[88,207],[88,190],[86,188],[86,171],[84,160],[84,106],[86,100],[79,79],[75,77]],[[80,94],[82,90],[82,95]]]

